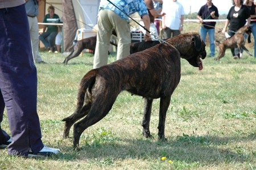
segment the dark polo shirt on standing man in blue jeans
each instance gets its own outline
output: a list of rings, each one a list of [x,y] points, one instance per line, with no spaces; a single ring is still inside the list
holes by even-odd
[[[214,19],[214,18],[212,18],[212,16],[210,16],[210,13],[212,13],[212,11],[215,11],[215,16],[218,17],[217,7],[214,6],[213,3],[212,3],[212,6],[208,9],[207,4],[205,4],[200,8],[197,15],[201,16],[202,19]],[[216,22],[203,22],[203,24],[204,24],[205,28],[210,29],[210,28],[215,27]],[[210,27],[208,27],[208,26],[210,26]]]

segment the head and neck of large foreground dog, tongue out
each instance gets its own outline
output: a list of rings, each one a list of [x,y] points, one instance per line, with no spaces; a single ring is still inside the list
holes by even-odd
[[[205,59],[207,52],[199,34],[181,34],[166,41],[180,52],[181,58],[186,59],[193,67],[203,69],[201,59]]]

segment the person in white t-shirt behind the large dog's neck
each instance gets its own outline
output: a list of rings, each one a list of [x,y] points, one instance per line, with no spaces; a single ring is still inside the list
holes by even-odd
[[[177,0],[163,0],[162,38],[168,39],[183,31],[184,9]]]

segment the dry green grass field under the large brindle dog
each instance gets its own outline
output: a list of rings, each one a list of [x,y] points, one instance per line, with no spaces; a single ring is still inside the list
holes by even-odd
[[[155,139],[145,139],[143,99],[122,92],[110,113],[83,132],[80,152],[72,150],[72,139],[62,139],[61,119],[75,111],[77,88],[92,69],[93,55],[68,65],[62,64],[66,55],[41,55],[47,62],[36,64],[42,140],[62,153],[26,159],[0,150],[0,169],[256,169],[256,59],[246,53],[240,60],[233,60],[230,50],[220,62],[207,57],[203,71],[181,59],[180,84],[167,112],[167,142],[157,140],[159,99],[150,123]],[[114,60],[110,55],[109,62]],[[1,126],[10,132],[6,113]]]

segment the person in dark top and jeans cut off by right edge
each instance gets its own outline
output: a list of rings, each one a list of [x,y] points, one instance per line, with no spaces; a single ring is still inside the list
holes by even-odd
[[[256,57],[256,13],[255,13],[255,5],[254,5],[254,0],[246,0],[245,5],[249,8],[250,10],[250,15],[251,15],[251,31],[253,32],[253,37],[254,37],[254,57]]]

